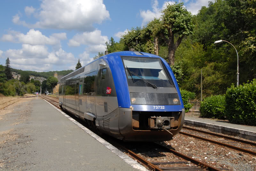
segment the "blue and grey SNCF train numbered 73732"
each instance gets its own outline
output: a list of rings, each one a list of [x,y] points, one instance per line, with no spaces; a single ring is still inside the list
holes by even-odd
[[[166,141],[185,109],[169,64],[139,51],[114,52],[60,79],[59,106],[123,141]]]

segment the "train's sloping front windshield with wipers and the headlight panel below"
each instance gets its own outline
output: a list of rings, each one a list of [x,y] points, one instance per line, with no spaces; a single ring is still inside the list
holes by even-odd
[[[180,105],[177,90],[160,58],[123,56],[131,103]]]

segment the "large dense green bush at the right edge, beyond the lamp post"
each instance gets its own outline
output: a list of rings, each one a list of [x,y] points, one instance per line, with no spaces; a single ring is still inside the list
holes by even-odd
[[[256,126],[256,79],[228,88],[225,113],[230,123]]]

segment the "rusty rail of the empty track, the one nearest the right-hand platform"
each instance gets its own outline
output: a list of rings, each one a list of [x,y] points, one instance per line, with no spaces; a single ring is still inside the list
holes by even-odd
[[[193,130],[193,131],[196,131],[196,132],[201,132],[201,133],[208,134],[208,135],[212,135],[212,136],[219,137],[219,138],[224,138],[224,139],[236,141],[236,142],[243,143],[243,144],[247,144],[247,145],[256,146],[256,143],[250,142],[250,141],[245,141],[245,140],[243,140],[243,139],[228,137],[228,136],[225,136],[225,135],[220,135],[220,134],[216,134],[216,133],[208,132],[208,131],[204,131],[204,130],[197,130],[197,129],[195,129],[195,128],[189,128],[189,127],[186,127],[186,126],[183,126],[182,128],[187,129],[187,130]]]

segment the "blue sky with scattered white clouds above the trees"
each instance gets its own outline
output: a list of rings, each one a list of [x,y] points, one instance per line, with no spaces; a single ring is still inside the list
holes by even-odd
[[[196,15],[209,0],[180,0]],[[164,0],[8,0],[0,2],[0,64],[26,71],[75,70],[105,42],[159,18]]]

